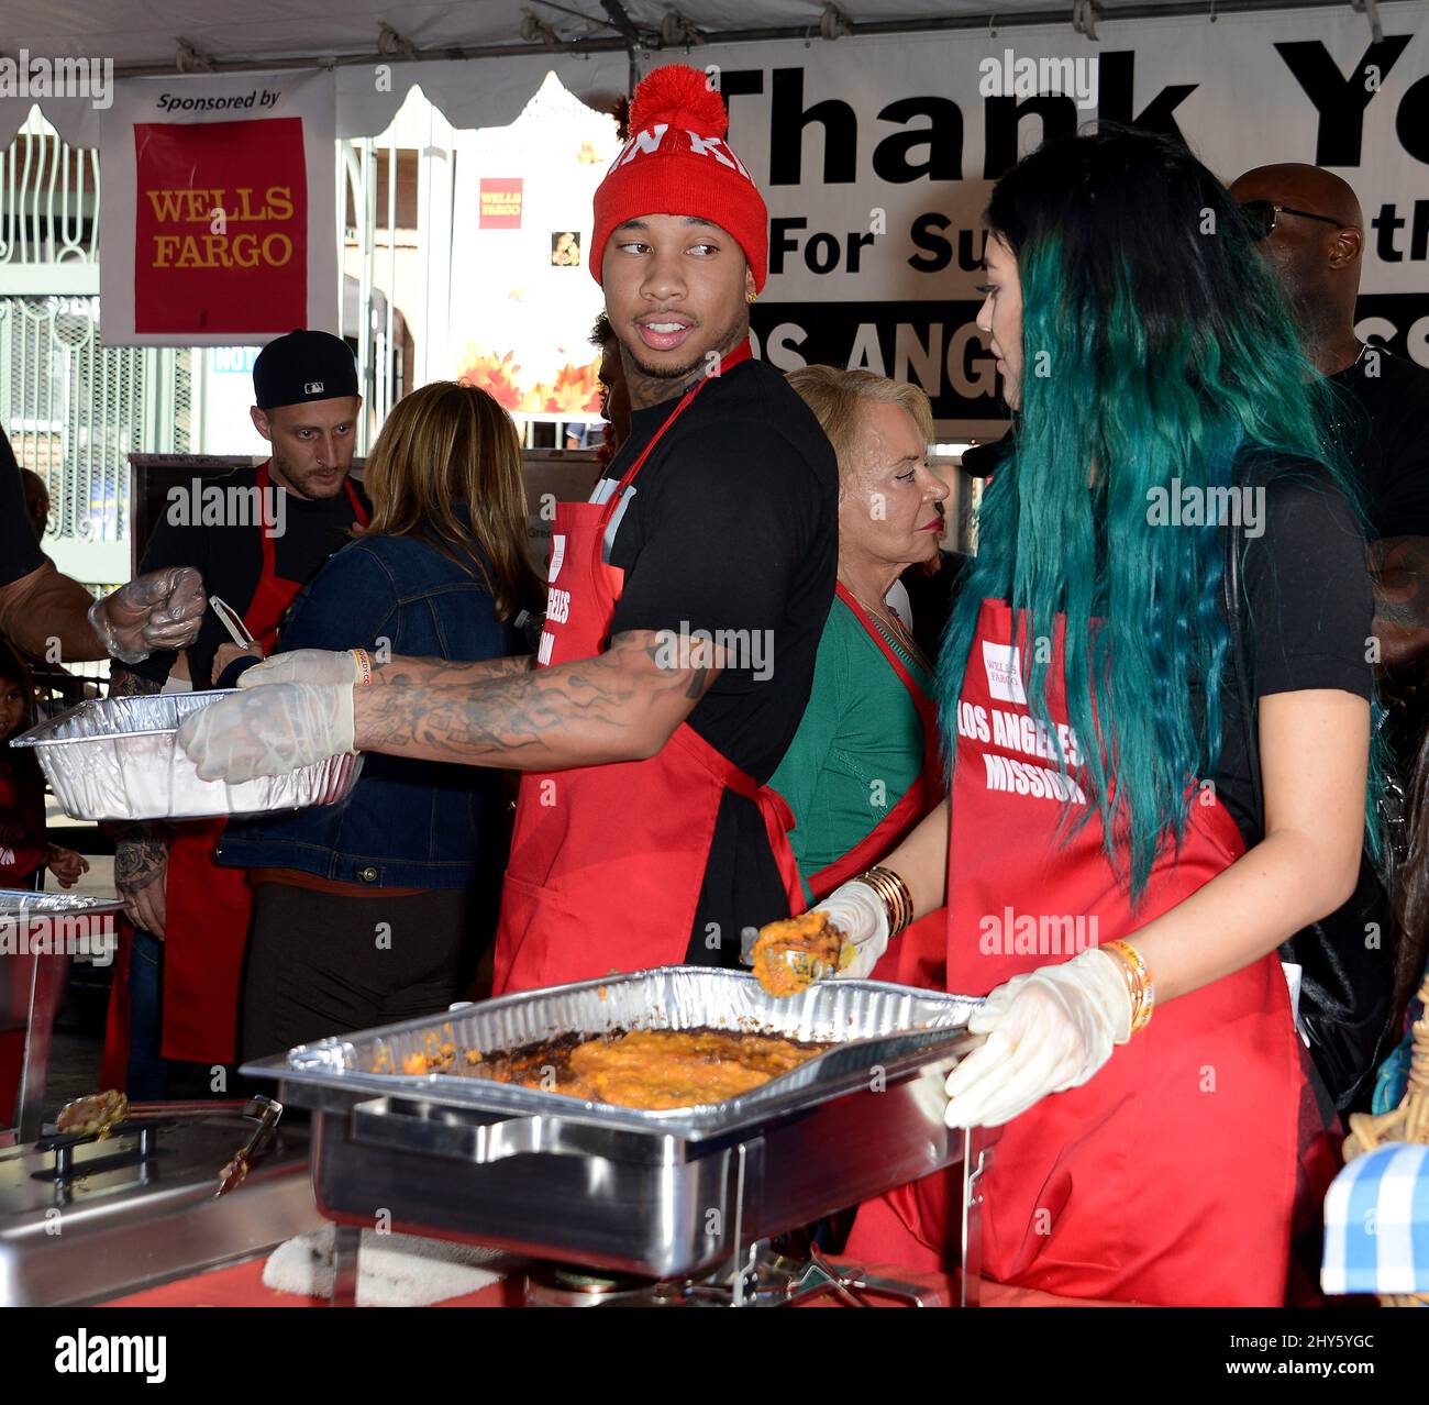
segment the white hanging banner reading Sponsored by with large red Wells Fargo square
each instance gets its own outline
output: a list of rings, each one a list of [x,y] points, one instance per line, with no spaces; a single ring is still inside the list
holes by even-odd
[[[124,81],[116,110],[101,152],[106,342],[334,327],[329,74]]]

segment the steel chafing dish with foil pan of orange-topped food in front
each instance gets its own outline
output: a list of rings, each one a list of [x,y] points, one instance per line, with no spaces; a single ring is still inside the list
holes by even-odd
[[[247,1063],[314,1113],[342,1223],[653,1278],[726,1263],[963,1161],[943,1081],[979,1001],[873,980],[787,998],[666,966],[500,996]]]

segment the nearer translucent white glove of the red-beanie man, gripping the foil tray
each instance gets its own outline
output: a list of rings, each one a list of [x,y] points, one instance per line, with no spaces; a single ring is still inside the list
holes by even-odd
[[[313,683],[274,683],[221,697],[190,713],[179,745],[203,780],[282,776],[352,752],[353,690]]]

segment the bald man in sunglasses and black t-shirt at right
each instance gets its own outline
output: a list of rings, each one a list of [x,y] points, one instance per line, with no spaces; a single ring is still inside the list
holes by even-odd
[[[1306,354],[1363,410],[1363,423],[1342,426],[1342,449],[1375,539],[1375,637],[1382,666],[1418,680],[1429,663],[1429,369],[1355,332],[1365,217],[1346,182],[1318,166],[1259,166],[1230,193],[1280,276]]]

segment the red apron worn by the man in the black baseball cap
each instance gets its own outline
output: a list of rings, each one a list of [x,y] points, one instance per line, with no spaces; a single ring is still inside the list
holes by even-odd
[[[259,500],[272,483],[269,463],[259,467]],[[349,479],[344,483],[357,526],[367,525],[362,499]],[[272,653],[277,629],[287,607],[306,582],[277,573],[273,536],[262,532],[263,570],[243,623]],[[244,869],[214,862],[227,820],[196,819],[174,826],[169,848],[169,876],[164,893],[163,1042],[160,1055],[197,1063],[231,1063],[237,1058],[239,991],[243,949],[247,945],[252,895]],[[120,972],[124,979],[121,982]],[[106,1035],[106,1071],[123,1068],[129,1058],[129,952],[116,963],[114,988],[123,999],[121,1022],[117,1001],[110,999],[110,1031]],[[123,991],[119,986],[123,983]],[[110,1046],[114,1046],[113,1051]],[[106,1083],[106,1086],[123,1086]]]

